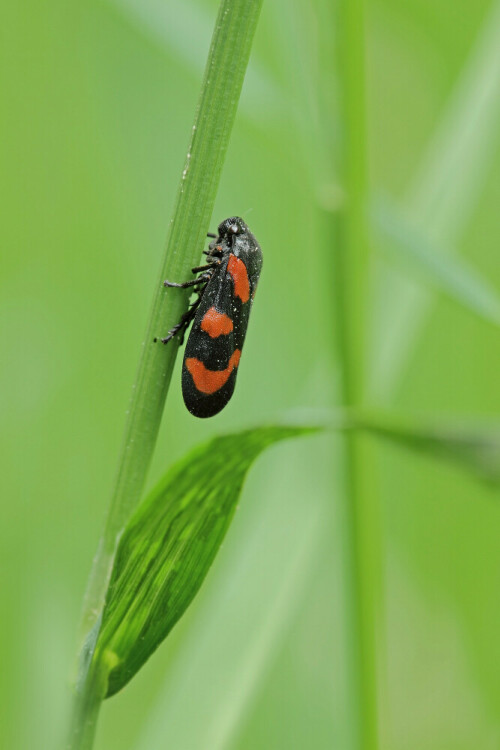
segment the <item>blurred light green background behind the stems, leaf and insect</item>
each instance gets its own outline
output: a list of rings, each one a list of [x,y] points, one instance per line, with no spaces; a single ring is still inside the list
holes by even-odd
[[[1,9],[5,748],[64,735],[81,600],[217,7]],[[326,0],[264,3],[212,220],[242,215],[264,251],[243,367],[231,404],[203,422],[183,406],[178,361],[150,486],[208,435],[337,403],[323,217],[338,187],[318,137],[337,128],[321,106],[321,92],[335,99],[320,54],[332,16]],[[366,3],[370,189],[423,238],[412,254],[373,235],[374,406],[434,420],[500,412],[499,49],[498,2]],[[194,605],[105,703],[98,750],[350,748],[337,448],[314,438],[259,461]],[[498,492],[460,466],[373,450],[381,747],[494,750]]]

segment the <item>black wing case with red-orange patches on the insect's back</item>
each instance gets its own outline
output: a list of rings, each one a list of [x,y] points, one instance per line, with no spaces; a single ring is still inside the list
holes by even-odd
[[[233,395],[262,255],[235,248],[208,282],[182,363],[182,395],[195,417],[212,417]],[[255,257],[257,249],[258,257]]]

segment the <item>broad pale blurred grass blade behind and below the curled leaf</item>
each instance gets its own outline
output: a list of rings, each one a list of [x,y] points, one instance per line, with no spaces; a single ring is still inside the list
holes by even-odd
[[[272,466],[266,457],[266,467],[252,471],[135,750],[240,745],[318,568],[331,564],[324,553],[332,548],[330,442],[294,441],[278,449]]]

